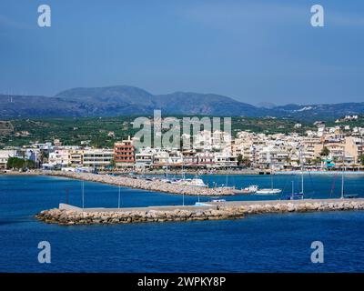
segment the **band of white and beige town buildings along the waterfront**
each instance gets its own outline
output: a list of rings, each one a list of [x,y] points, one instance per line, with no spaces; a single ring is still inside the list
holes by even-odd
[[[349,118],[349,116],[346,116]],[[350,117],[350,118],[355,118]],[[5,168],[9,157],[17,156],[35,161],[45,168],[162,168],[199,167],[231,168],[245,166],[279,171],[298,169],[304,164],[310,168],[351,167],[363,163],[364,128],[326,126],[316,123],[316,130],[304,135],[263,134],[237,132],[235,138],[222,131],[206,130],[192,137],[189,148],[136,148],[130,136],[115,143],[113,148],[33,144],[0,150],[0,168]]]

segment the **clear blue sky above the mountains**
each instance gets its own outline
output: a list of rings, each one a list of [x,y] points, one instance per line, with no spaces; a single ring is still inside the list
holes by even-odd
[[[37,7],[52,26],[37,25]],[[325,27],[310,25],[323,5]],[[136,85],[250,104],[364,101],[364,1],[0,2],[0,92]]]

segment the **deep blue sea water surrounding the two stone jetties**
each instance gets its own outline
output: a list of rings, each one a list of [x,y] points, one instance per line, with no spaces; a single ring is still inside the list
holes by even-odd
[[[226,184],[226,176],[204,176]],[[299,176],[275,176],[290,192]],[[270,186],[269,176],[229,176],[229,186]],[[309,197],[339,196],[340,178],[306,176]],[[40,210],[66,201],[80,206],[81,183],[47,176],[0,176],[1,272],[363,272],[364,212],[248,216],[240,220],[116,226],[45,225]],[[298,187],[299,189],[299,187]],[[348,176],[346,191],[364,194],[364,177]],[[85,183],[86,207],[117,206],[118,189]],[[234,196],[227,199],[278,199]],[[208,200],[201,197],[201,200]],[[185,197],[194,204],[197,197]],[[123,206],[178,205],[181,196],[122,188]],[[49,241],[52,264],[37,262]],[[325,263],[310,263],[310,244],[322,241]]]

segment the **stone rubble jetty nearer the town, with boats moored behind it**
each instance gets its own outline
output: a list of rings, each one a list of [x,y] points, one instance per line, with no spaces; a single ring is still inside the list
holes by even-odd
[[[232,189],[227,187],[207,188],[199,186],[183,186],[167,183],[163,180],[147,180],[144,178],[133,178],[128,176],[108,176],[90,173],[73,173],[61,171],[45,171],[48,176],[65,176],[69,178],[99,182],[115,186],[125,186],[148,191],[165,192],[188,196],[229,196],[234,195]]]

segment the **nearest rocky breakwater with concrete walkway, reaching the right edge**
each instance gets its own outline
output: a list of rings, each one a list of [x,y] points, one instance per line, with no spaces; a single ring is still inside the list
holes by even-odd
[[[364,210],[364,199],[328,199],[297,201],[235,201],[208,203],[204,206],[150,206],[135,208],[78,208],[60,205],[35,217],[45,223],[65,226],[129,224],[167,221],[236,219],[247,215]]]

